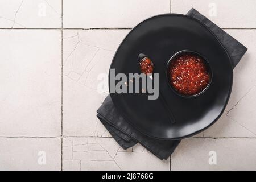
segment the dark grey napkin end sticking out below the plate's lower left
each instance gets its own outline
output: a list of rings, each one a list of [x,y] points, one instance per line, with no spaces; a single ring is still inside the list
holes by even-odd
[[[97,113],[98,119],[123,149],[140,143],[159,159],[167,159],[180,142],[154,139],[135,130],[115,108],[110,96],[106,97]]]

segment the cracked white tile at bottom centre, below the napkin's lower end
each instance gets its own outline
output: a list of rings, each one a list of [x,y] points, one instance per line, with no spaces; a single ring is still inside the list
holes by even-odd
[[[141,146],[121,150],[113,138],[64,138],[63,145],[72,147],[71,158],[63,168],[72,170],[169,170],[170,160],[159,160]],[[134,149],[134,148],[133,148]],[[63,151],[65,155],[65,150]],[[139,163],[138,163],[139,161]],[[79,167],[80,164],[80,167]]]

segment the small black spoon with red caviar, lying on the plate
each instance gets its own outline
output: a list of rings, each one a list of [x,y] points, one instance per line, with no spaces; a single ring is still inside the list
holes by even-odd
[[[153,69],[152,69],[152,73],[153,73],[153,71],[154,71],[154,63],[152,62],[152,60],[150,59],[150,57],[148,57],[148,56],[145,55],[144,53],[140,53],[140,54],[138,55],[139,64],[140,64],[141,61],[143,61],[143,59],[146,58],[146,57],[151,61],[151,65],[152,65],[152,67],[153,67]],[[141,72],[142,72],[142,71],[141,71]],[[145,73],[145,74],[147,75],[148,73]],[[149,77],[151,78],[152,81],[154,81],[153,75],[150,75]],[[174,114],[173,114],[172,111],[170,110],[170,107],[168,106],[167,101],[164,99],[163,94],[161,93],[160,89],[159,89],[159,96],[160,96],[160,100],[161,100],[161,102],[162,102],[162,104],[163,104],[163,106],[164,106],[164,109],[166,109],[166,111],[167,111],[167,113],[168,113],[168,117],[169,117],[171,123],[175,123]]]

